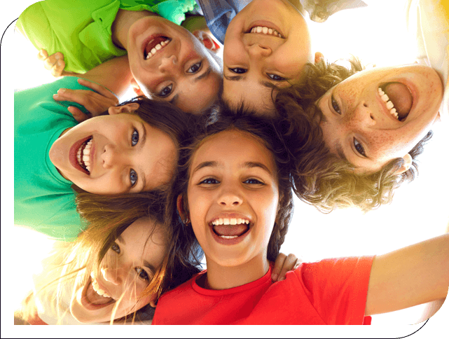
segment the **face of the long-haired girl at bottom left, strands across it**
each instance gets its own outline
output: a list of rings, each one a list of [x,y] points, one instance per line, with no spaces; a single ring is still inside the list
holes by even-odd
[[[78,321],[110,321],[117,303],[118,309],[113,319],[132,314],[153,303],[152,296],[141,297],[141,293],[167,254],[166,235],[160,230],[161,226],[156,227],[151,235],[154,228],[151,219],[139,219],[132,223],[107,251],[102,260],[101,274],[96,276],[92,272],[88,284],[77,285],[70,312]],[[148,238],[149,235],[151,237]],[[84,274],[83,270],[81,272],[78,277]]]

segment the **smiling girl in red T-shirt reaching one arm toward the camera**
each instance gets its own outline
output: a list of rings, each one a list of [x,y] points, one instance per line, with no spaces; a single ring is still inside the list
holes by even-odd
[[[209,125],[184,159],[177,209],[207,270],[165,293],[153,324],[364,324],[445,297],[448,235],[377,257],[303,263],[273,284],[271,254],[291,214],[289,155],[268,121],[252,119]]]

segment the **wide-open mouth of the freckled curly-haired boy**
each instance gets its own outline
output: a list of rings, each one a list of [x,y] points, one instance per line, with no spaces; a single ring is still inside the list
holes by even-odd
[[[404,122],[413,106],[413,95],[403,83],[385,83],[378,88],[380,98],[389,113],[401,122]]]

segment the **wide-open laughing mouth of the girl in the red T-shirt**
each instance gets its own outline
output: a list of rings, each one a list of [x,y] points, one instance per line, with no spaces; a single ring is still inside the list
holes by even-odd
[[[221,244],[236,244],[251,230],[251,221],[242,218],[219,218],[211,223],[212,236]]]

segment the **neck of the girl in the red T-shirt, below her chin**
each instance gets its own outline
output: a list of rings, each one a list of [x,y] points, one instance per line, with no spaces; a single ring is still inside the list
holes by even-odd
[[[206,289],[232,289],[263,277],[270,269],[266,253],[252,258],[247,263],[238,266],[221,266],[212,260],[207,260],[207,275],[202,287]]]

